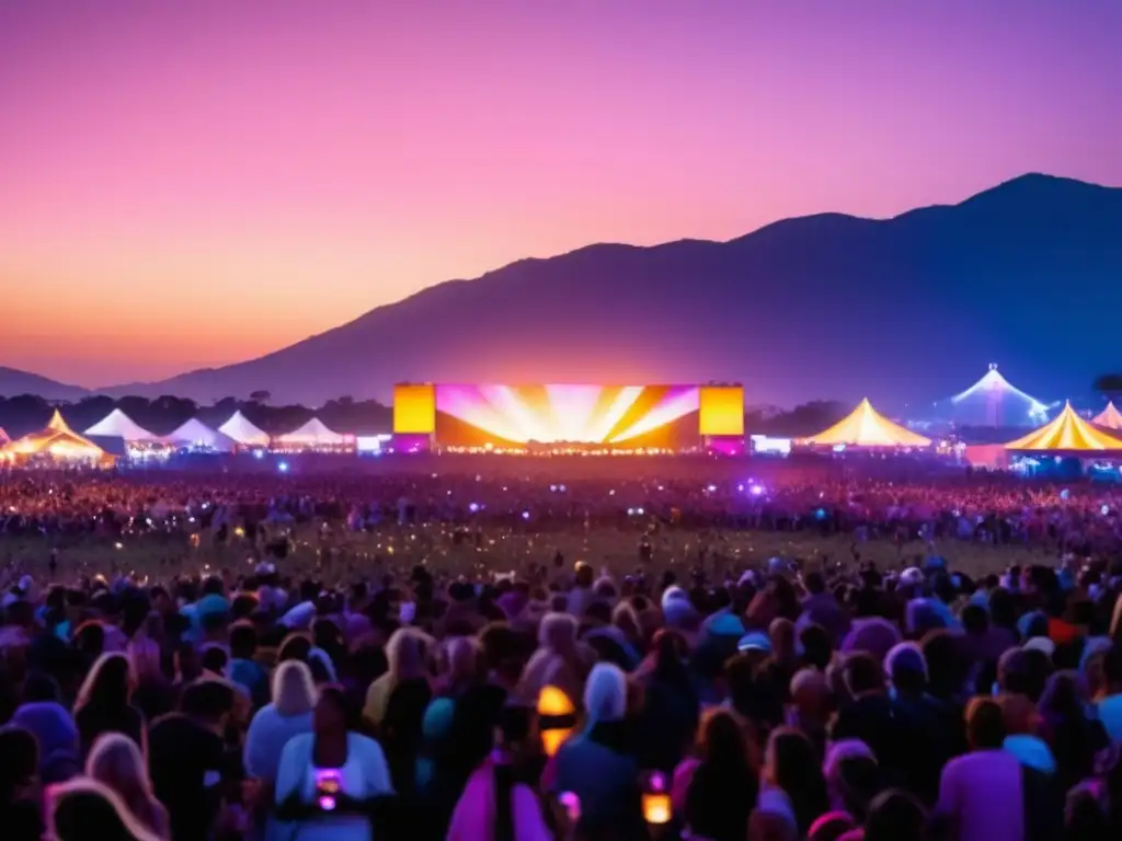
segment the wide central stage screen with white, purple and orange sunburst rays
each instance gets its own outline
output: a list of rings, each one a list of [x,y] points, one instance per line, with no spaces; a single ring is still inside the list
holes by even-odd
[[[680,450],[700,443],[697,386],[436,386],[441,446],[600,445]]]

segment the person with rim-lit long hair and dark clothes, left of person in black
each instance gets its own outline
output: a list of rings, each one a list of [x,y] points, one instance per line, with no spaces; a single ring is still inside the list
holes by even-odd
[[[107,653],[98,658],[74,703],[82,756],[89,756],[102,733],[123,733],[146,749],[144,714],[130,703],[132,666],[123,654]]]

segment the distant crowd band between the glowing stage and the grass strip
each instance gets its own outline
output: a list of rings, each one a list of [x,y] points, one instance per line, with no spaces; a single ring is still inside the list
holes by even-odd
[[[439,520],[564,530],[638,516],[696,527],[829,529],[862,539],[1059,540],[1092,549],[1122,539],[1122,489],[1089,482],[1032,483],[892,461],[848,469],[755,460],[745,469],[743,460],[673,458],[577,459],[565,466],[494,456],[405,461],[405,470],[396,461],[347,473],[12,472],[0,484],[0,535],[193,533],[214,523],[312,520],[352,529]]]

